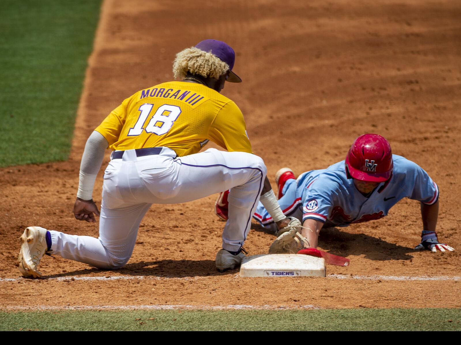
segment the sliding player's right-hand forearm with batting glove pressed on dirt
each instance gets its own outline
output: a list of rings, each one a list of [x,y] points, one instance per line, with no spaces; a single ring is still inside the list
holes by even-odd
[[[435,204],[427,205],[421,202],[421,219],[423,221],[423,231],[421,232],[421,243],[414,249],[427,249],[432,252],[450,251],[453,252],[455,249],[445,243],[440,243],[435,232],[438,218],[438,200]]]

